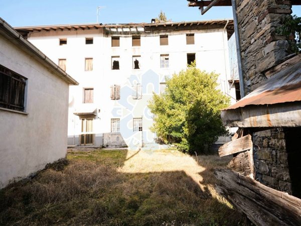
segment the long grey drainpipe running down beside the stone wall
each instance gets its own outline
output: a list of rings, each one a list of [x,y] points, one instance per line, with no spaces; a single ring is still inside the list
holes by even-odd
[[[243,81],[242,63],[241,63],[241,49],[240,49],[240,41],[239,41],[240,39],[239,39],[239,30],[238,30],[236,0],[231,0],[231,2],[232,2],[232,11],[233,11],[233,20],[234,20],[234,32],[235,32],[235,42],[236,42],[240,96],[242,98],[245,96],[245,91],[244,91],[244,81]]]

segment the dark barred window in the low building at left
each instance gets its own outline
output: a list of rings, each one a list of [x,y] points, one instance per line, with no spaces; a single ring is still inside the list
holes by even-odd
[[[0,65],[0,107],[24,111],[27,78]]]

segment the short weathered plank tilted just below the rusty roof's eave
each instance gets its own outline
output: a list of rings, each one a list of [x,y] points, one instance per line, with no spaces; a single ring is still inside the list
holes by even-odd
[[[218,149],[220,157],[250,150],[253,147],[251,135],[247,135],[237,140],[230,141]]]

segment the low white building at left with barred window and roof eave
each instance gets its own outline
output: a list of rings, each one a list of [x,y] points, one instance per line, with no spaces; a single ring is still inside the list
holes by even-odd
[[[0,18],[0,189],[66,156],[69,84]]]

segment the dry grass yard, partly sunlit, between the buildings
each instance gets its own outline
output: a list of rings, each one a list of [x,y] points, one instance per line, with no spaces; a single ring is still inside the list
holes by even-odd
[[[229,159],[177,151],[69,152],[31,181],[0,191],[1,225],[242,225],[214,193]]]

